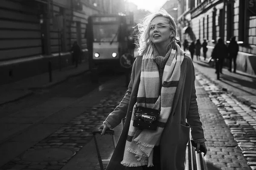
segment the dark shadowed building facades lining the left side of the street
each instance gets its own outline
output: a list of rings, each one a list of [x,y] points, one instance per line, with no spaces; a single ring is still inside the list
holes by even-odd
[[[71,65],[74,41],[86,61],[87,18],[124,8],[123,0],[1,0],[0,84],[47,72],[49,61],[52,69]]]

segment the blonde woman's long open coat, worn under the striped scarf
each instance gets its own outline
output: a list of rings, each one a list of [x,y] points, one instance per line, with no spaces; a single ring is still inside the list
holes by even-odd
[[[122,133],[106,170],[129,169],[127,167],[125,169],[120,162],[123,159],[132,109],[137,101],[141,63],[142,56],[138,56],[132,68],[131,82],[128,85],[127,94],[106,119],[112,127],[116,127],[126,116]],[[180,81],[175,93],[173,109],[160,139],[161,170],[184,169],[186,144],[189,141],[190,128],[192,129],[193,139],[204,138],[196,97],[194,66],[192,60],[185,56],[181,64]]]

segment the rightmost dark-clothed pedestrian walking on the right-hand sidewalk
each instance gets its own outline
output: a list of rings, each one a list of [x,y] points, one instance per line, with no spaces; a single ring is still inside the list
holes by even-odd
[[[228,45],[228,53],[229,53],[229,59],[230,59],[230,68],[228,69],[230,72],[232,71],[232,61],[234,64],[234,70],[233,72],[236,73],[236,57],[239,51],[239,46],[236,42],[236,37],[230,38],[230,44]]]

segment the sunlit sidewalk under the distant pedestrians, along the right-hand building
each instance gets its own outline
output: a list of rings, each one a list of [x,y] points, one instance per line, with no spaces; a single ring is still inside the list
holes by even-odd
[[[189,51],[186,53],[190,56]],[[228,93],[239,99],[240,102],[256,108],[256,77],[245,74],[241,71],[236,73],[228,71],[227,67],[222,69],[220,79],[217,79],[215,74],[215,67],[210,67],[207,60],[204,61],[204,57],[201,56],[201,60],[197,60],[196,56],[193,59],[195,71],[199,71],[210,79],[215,85],[227,90]]]

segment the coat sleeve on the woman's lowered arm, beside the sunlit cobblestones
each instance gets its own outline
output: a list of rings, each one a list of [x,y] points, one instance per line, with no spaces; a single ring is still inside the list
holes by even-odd
[[[200,115],[198,112],[198,104],[197,104],[197,96],[195,94],[195,68],[192,65],[192,93],[190,96],[190,104],[189,104],[189,112],[186,117],[187,122],[191,127],[191,135],[194,140],[198,139],[200,142],[205,142],[206,139],[204,138],[204,130],[202,127],[202,122],[200,121]]]

